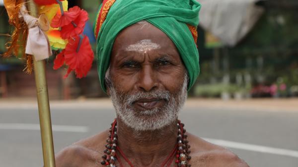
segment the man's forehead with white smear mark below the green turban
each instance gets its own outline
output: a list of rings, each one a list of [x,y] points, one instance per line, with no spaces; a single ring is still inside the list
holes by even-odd
[[[112,56],[119,52],[150,50],[179,56],[172,40],[150,23],[137,23],[121,31],[115,39]]]

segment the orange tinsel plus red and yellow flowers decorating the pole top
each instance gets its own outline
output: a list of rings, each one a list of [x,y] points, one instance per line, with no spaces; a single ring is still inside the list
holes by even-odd
[[[58,69],[66,64],[68,70],[65,78],[72,71],[75,72],[77,78],[85,77],[91,69],[94,59],[89,39],[82,34],[88,20],[88,13],[78,6],[68,9],[67,0],[33,1],[36,3],[40,14],[40,17],[36,18],[39,19],[37,24],[42,30],[42,34],[45,34],[51,47],[50,50],[61,51],[54,60],[53,68]],[[4,0],[4,5],[9,16],[9,23],[15,27],[11,40],[6,44],[7,52],[3,55],[8,57],[12,54],[18,55],[19,41],[22,42],[21,47],[25,48],[28,41],[26,37],[28,37],[28,31],[30,35],[32,26],[29,26],[25,17],[19,16],[19,13],[26,15],[25,3],[22,0]],[[32,55],[26,53],[23,51],[23,58],[27,60],[26,69],[30,73],[33,58]],[[51,52],[50,55],[52,55]]]

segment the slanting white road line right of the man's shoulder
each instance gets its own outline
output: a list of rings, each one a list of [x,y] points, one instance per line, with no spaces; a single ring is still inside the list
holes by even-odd
[[[273,147],[231,142],[231,141],[218,140],[218,139],[209,139],[209,138],[203,138],[203,139],[207,140],[210,143],[214,143],[227,148],[248,150],[248,151],[255,151],[255,152],[261,152],[261,153],[269,153],[269,154],[298,158],[298,151],[294,151],[294,150],[279,149],[279,148],[273,148]]]

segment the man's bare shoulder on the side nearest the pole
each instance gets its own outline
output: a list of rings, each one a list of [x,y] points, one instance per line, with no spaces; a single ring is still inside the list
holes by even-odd
[[[55,156],[56,167],[99,166],[104,149],[106,132],[78,141]]]

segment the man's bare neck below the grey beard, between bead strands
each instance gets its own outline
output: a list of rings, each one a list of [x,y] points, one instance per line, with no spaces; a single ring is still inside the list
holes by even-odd
[[[177,121],[148,131],[136,131],[117,118],[118,146],[135,167],[156,167],[170,155],[177,143]]]

